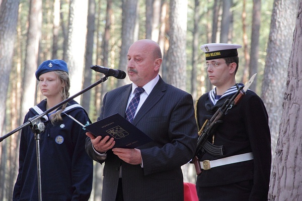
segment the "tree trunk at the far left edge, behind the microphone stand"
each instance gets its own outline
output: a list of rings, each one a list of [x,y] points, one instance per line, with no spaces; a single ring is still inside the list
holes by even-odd
[[[13,68],[13,52],[17,33],[19,1],[3,0],[2,2],[0,1],[0,5],[0,132],[5,133],[7,132],[7,129],[5,129],[7,92],[10,73]],[[11,197],[9,187],[14,177],[8,180],[8,182],[5,181],[10,176],[10,168],[12,168],[13,171],[16,171],[16,169],[14,166],[8,164],[10,158],[7,156],[7,147],[10,147],[9,142],[17,144],[17,138],[17,136],[14,136],[14,138],[4,139],[0,144],[0,200],[4,200],[6,194],[8,194],[7,197]],[[6,160],[7,158],[9,160]],[[12,160],[12,162],[15,161]]]

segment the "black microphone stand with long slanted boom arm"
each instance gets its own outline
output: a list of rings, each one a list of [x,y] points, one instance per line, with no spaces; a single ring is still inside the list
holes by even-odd
[[[37,170],[38,170],[38,191],[39,191],[39,201],[42,201],[42,192],[41,192],[41,165],[40,165],[40,133],[42,133],[45,130],[45,125],[41,121],[41,117],[44,115],[47,115],[51,111],[54,111],[55,109],[59,108],[60,106],[64,105],[65,103],[69,102],[71,99],[81,95],[82,93],[90,90],[91,88],[95,87],[96,85],[100,84],[101,82],[104,82],[108,79],[110,75],[105,74],[105,77],[101,78],[99,81],[95,82],[94,84],[86,87],[85,89],[81,90],[80,92],[68,97],[67,99],[63,100],[61,103],[53,106],[52,108],[46,110],[40,115],[36,115],[35,117],[32,117],[28,120],[28,122],[24,123],[23,125],[19,126],[15,130],[9,132],[8,134],[0,137],[0,142],[2,142],[7,137],[13,135],[17,131],[23,129],[26,126],[30,126],[32,132],[35,135],[36,140],[36,151],[37,151]]]

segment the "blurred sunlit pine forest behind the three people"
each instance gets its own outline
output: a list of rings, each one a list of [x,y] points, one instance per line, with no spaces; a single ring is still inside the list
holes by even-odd
[[[200,45],[236,43],[243,46],[239,49],[236,79],[246,83],[257,73],[250,89],[262,97],[269,114],[275,161],[269,198],[278,200],[283,196],[280,200],[286,200],[283,199],[286,196],[302,196],[301,165],[296,161],[301,149],[295,150],[287,165],[291,171],[287,173],[281,170],[279,163],[286,163],[289,157],[281,157],[283,148],[277,147],[279,151],[275,151],[277,142],[281,142],[279,133],[283,131],[281,136],[285,136],[283,144],[291,138],[285,135],[289,131],[282,129],[282,122],[287,122],[286,117],[290,115],[282,116],[282,112],[288,100],[286,89],[290,78],[300,80],[298,76],[289,77],[293,67],[290,61],[297,59],[293,58],[293,50],[302,49],[292,46],[294,36],[301,35],[300,14],[300,0],[0,0],[0,130],[1,136],[5,136],[0,146],[0,199],[12,199],[19,167],[18,128],[28,109],[45,98],[37,90],[34,76],[39,64],[48,59],[65,60],[71,78],[70,95],[74,95],[103,77],[92,71],[91,65],[126,71],[129,46],[145,38],[158,42],[162,48],[164,60],[160,75],[163,79],[191,93],[194,100],[213,87],[203,67],[205,59]],[[295,66],[299,66],[298,62]],[[126,83],[130,83],[128,77],[109,77],[75,100],[95,122],[104,94]],[[292,88],[290,90],[294,90]],[[298,121],[298,115],[293,119]],[[294,137],[300,136],[301,129],[291,131],[296,134]],[[300,141],[295,143],[295,147],[301,147]],[[291,152],[294,151],[288,151]],[[274,160],[276,153],[278,160]],[[94,163],[90,200],[101,200],[102,168]],[[295,168],[298,171],[294,171]],[[182,169],[184,181],[194,183],[193,165],[186,164]],[[293,171],[293,175],[287,175]],[[288,182],[282,183],[286,176],[287,180],[297,179],[288,185]],[[284,194],[277,193],[280,189],[285,189]]]

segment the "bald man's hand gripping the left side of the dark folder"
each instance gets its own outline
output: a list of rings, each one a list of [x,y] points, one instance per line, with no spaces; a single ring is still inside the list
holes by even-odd
[[[104,153],[115,145],[114,138],[105,136],[102,139],[102,136],[95,137],[92,133],[87,132],[86,135],[90,137],[91,143],[96,151],[99,153]],[[110,139],[109,139],[110,138]]]

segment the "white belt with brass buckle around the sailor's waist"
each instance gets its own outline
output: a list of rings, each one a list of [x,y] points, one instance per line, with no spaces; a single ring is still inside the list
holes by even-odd
[[[204,160],[200,161],[201,169],[203,170],[209,170],[213,167],[218,167],[222,165],[228,165],[232,163],[239,163],[247,160],[253,160],[253,153],[245,153],[245,154],[239,154],[235,156],[230,156],[226,158],[221,158],[217,160]]]

